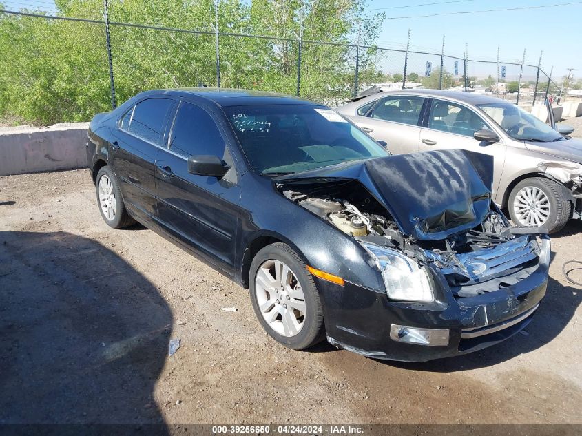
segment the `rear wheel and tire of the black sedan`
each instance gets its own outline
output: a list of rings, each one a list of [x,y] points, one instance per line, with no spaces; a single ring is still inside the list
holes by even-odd
[[[99,169],[95,190],[101,217],[109,227],[122,229],[136,223],[134,218],[127,214],[117,178],[110,167]]]

